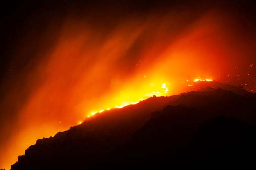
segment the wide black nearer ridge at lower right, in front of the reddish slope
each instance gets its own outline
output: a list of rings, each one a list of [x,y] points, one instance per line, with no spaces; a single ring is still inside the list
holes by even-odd
[[[185,121],[171,125],[164,124],[169,120],[166,116],[157,119],[133,136],[115,169],[124,165],[124,169],[254,169],[256,166],[255,126],[225,116],[199,124]]]

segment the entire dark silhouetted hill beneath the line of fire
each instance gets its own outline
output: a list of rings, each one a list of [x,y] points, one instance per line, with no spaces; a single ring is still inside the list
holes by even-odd
[[[105,111],[36,141],[12,170],[255,168],[256,96],[230,87]]]

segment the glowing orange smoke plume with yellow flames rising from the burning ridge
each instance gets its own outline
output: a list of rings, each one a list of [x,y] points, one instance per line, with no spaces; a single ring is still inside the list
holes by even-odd
[[[252,53],[241,37],[234,41],[231,16],[210,11],[193,22],[187,17],[174,12],[130,17],[107,29],[68,17],[52,48],[36,53],[35,69],[23,75],[28,97],[1,148],[0,165],[10,168],[36,139],[96,112],[184,92],[198,77],[223,81],[220,74]],[[14,102],[15,93],[9,94]]]

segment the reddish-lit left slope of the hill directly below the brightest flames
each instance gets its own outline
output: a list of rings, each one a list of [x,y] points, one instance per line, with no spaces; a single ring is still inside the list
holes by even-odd
[[[53,138],[36,141],[24,156],[18,158],[12,169],[93,168],[95,162],[104,161],[150,120],[152,111],[161,110],[178,97],[152,97],[136,105],[104,111]]]

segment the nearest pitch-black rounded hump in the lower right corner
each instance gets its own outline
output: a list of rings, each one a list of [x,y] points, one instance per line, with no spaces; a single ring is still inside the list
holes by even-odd
[[[185,154],[197,168],[255,169],[256,128],[233,117],[216,117],[199,126]]]

